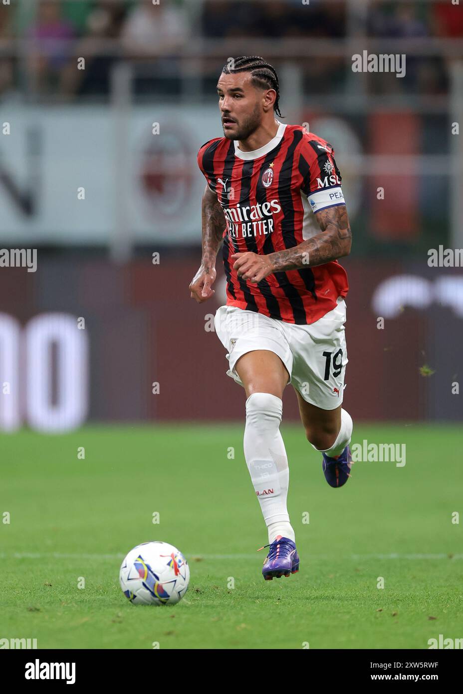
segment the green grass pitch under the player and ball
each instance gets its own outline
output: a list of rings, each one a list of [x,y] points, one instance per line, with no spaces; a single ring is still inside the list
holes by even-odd
[[[256,552],[267,534],[242,425],[3,434],[0,638],[37,638],[38,648],[426,649],[439,634],[463,636],[462,524],[452,523],[463,512],[460,426],[356,425],[353,443],[405,443],[406,464],[357,462],[342,489],[326,484],[300,426],[282,433],[301,570],[272,582]],[[119,587],[125,553],[154,539],[190,564],[189,591],[172,607],[134,606]]]

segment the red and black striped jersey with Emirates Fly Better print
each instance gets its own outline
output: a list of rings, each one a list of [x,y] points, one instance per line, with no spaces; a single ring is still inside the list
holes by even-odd
[[[299,325],[335,308],[349,289],[337,260],[276,272],[258,284],[238,277],[229,260],[233,253],[284,251],[320,233],[314,212],[344,205],[331,144],[302,126],[279,124],[277,135],[252,152],[227,137],[209,140],[198,165],[225,216],[227,305]]]

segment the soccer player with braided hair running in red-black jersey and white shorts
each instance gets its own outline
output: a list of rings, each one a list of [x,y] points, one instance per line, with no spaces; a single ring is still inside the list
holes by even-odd
[[[191,281],[199,303],[214,294],[222,254],[227,305],[215,328],[229,371],[246,393],[244,454],[268,528],[263,577],[299,570],[290,524],[288,457],[279,431],[290,383],[308,441],[337,488],[351,469],[352,420],[342,409],[344,321],[351,230],[331,144],[285,125],[279,81],[259,56],[229,60],[217,84],[225,137],[203,144],[202,261]],[[315,222],[315,224],[314,224]]]

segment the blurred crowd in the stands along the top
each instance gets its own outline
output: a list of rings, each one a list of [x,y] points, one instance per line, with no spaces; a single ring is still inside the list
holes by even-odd
[[[115,61],[150,62],[151,77],[138,92],[175,92],[175,56],[195,38],[343,40],[348,31],[346,0],[37,0],[15,7],[0,4],[0,98],[6,94],[76,99],[107,96]],[[438,0],[370,0],[369,37],[463,36],[463,12]],[[458,19],[460,17],[460,19]],[[19,40],[19,41],[18,41]],[[359,50],[361,40],[359,39]],[[76,57],[85,56],[85,70]],[[349,61],[331,56],[299,58],[311,89],[324,92],[346,82]],[[214,66],[215,67],[215,66]],[[372,90],[446,90],[446,61],[412,58],[405,80],[375,81]],[[163,79],[157,81],[156,75]],[[166,79],[166,76],[168,79]],[[154,89],[153,89],[154,85]]]

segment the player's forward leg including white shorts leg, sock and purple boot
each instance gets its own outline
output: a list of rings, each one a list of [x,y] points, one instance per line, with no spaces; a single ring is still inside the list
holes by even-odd
[[[270,550],[265,579],[289,575],[299,568],[294,530],[290,525],[288,457],[279,431],[281,396],[292,371],[292,353],[281,321],[233,306],[221,306],[216,333],[227,349],[227,374],[246,391],[244,451],[254,491],[268,527]]]

